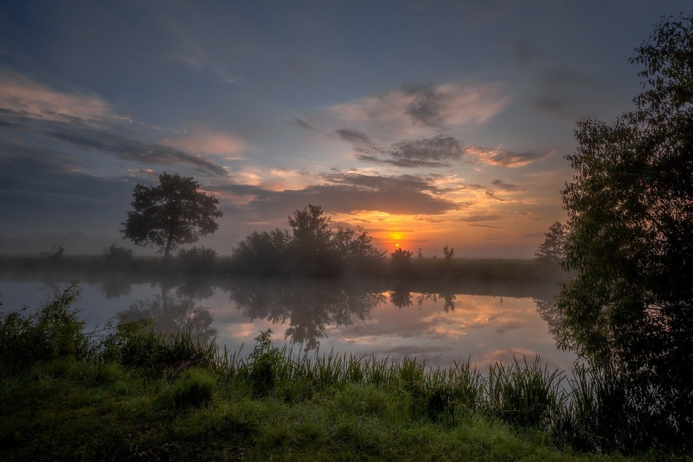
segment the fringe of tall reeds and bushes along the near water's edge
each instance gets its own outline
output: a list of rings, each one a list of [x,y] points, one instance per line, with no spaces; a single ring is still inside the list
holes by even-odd
[[[96,382],[116,382],[114,370],[130,371],[142,387],[154,387],[156,407],[166,412],[229,400],[277,400],[290,407],[332,400],[331,407],[348,410],[357,420],[376,416],[455,428],[469,416],[487,416],[552,434],[557,443],[581,450],[622,450],[632,439],[617,374],[577,368],[568,379],[538,358],[498,363],[482,373],[468,360],[432,370],[412,358],[295,355],[272,345],[271,330],[259,332],[247,356],[220,350],[216,340],[200,343],[186,332],[158,334],[146,321],[90,334],[71,308],[78,294],[71,285],[35,314],[0,315],[1,376],[69,359],[91,364],[98,372],[87,375]],[[337,434],[353,436],[344,425]]]

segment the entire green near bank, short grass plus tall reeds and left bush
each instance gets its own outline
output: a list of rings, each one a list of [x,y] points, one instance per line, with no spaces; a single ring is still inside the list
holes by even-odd
[[[269,331],[248,357],[219,355],[146,323],[85,333],[76,296],[72,286],[36,314],[0,315],[2,460],[665,458],[558,443],[556,427],[575,410],[560,377],[536,362],[480,374],[468,364],[295,358]]]

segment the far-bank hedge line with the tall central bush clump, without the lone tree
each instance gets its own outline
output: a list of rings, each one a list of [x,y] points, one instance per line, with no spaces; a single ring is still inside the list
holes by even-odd
[[[556,261],[462,259],[445,246],[443,256],[424,257],[421,251],[378,249],[366,231],[331,227],[331,217],[320,206],[308,204],[288,217],[288,229],[253,231],[220,257],[209,247],[179,249],[170,258],[136,256],[115,244],[98,256],[71,256],[53,245],[37,256],[1,257],[0,271],[69,274],[110,274],[143,278],[150,276],[305,276],[335,278],[359,276],[404,281],[536,281],[561,278]],[[81,275],[80,275],[81,276]],[[82,277],[80,277],[80,280]]]

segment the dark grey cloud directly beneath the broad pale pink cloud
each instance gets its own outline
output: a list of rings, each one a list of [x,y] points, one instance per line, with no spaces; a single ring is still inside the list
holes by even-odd
[[[389,148],[355,148],[356,157],[362,161],[389,163],[398,167],[447,167],[449,161],[459,161],[464,152],[453,136],[438,135],[432,138],[394,143]]]

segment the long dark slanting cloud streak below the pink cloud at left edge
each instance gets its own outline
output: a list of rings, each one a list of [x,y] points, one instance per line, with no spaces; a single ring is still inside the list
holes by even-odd
[[[114,124],[96,124],[64,114],[46,115],[52,115],[53,118],[35,118],[25,113],[3,109],[0,111],[0,126],[24,136],[33,136],[35,139],[59,141],[145,165],[154,163],[191,166],[209,175],[227,175],[226,170],[209,159],[171,146],[140,141],[128,130]]]

